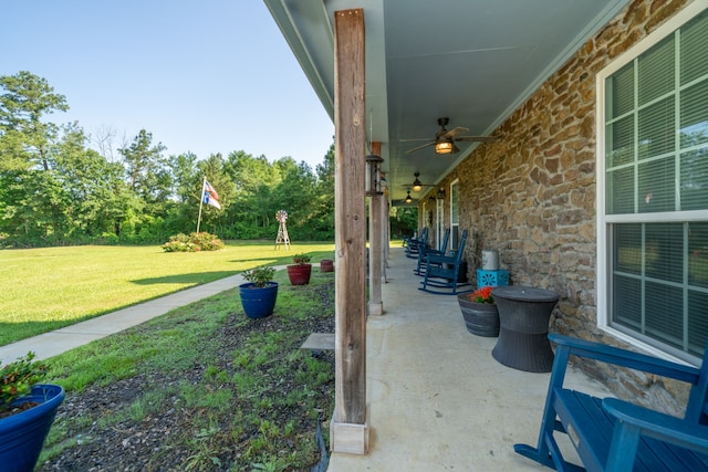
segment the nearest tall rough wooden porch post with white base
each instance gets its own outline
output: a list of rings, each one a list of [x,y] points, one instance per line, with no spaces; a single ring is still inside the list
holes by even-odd
[[[368,452],[364,10],[334,13],[334,452]]]

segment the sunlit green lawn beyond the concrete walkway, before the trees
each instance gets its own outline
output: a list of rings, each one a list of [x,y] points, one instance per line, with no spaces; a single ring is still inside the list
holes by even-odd
[[[158,245],[0,251],[0,345],[212,282],[293,254],[332,258],[333,243],[229,242],[222,251],[166,253]]]

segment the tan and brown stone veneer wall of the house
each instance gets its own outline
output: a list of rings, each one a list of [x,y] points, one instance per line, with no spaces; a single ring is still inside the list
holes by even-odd
[[[480,145],[439,186],[449,191],[459,179],[470,280],[481,250],[498,249],[512,284],[561,296],[552,331],[622,345],[596,326],[595,74],[687,3],[629,3],[493,132],[500,141]],[[681,385],[602,364],[582,367],[621,397],[683,410]]]

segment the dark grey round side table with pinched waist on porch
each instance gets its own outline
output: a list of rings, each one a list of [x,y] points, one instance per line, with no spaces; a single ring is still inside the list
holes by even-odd
[[[499,308],[499,339],[491,355],[504,366],[529,373],[550,373],[553,349],[549,319],[559,295],[530,286],[498,286],[491,292]]]

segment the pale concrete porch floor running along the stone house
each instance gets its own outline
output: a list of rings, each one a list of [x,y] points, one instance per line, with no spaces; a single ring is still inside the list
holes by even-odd
[[[327,471],[549,470],[513,444],[535,444],[550,374],[494,360],[497,338],[467,332],[456,296],[419,291],[415,262],[392,248],[385,313],[367,321],[369,453],[333,453]],[[574,368],[566,384],[612,396]]]

